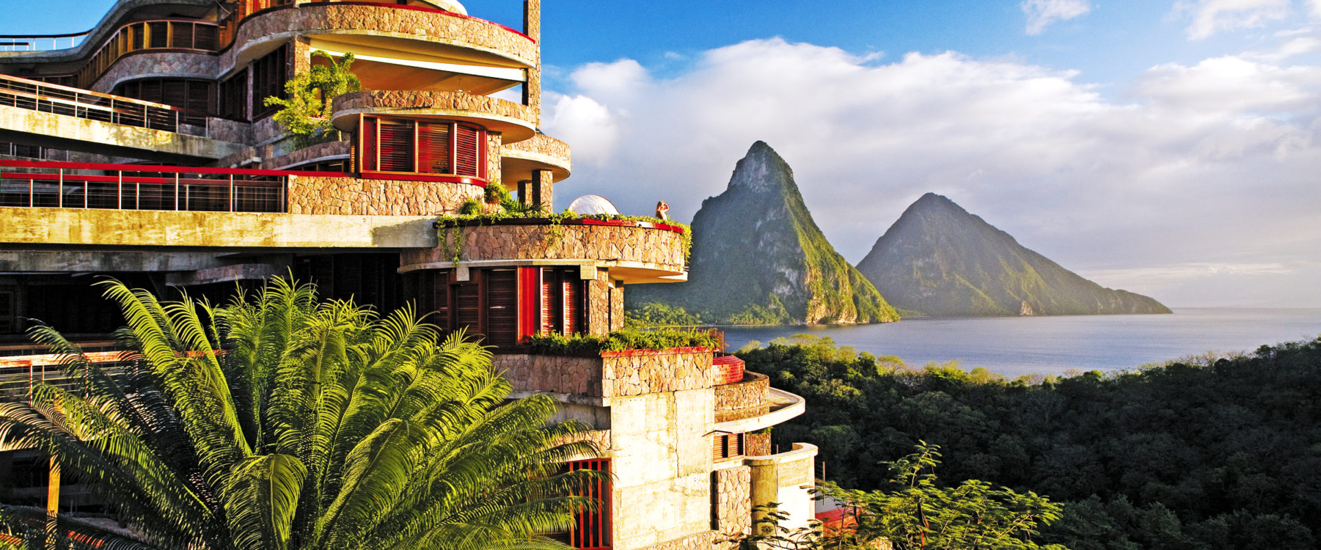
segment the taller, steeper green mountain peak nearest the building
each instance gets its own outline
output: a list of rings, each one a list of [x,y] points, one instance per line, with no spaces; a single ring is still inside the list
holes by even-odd
[[[704,323],[898,321],[826,240],[793,170],[761,141],[738,161],[725,193],[704,200],[694,216],[688,282],[638,285],[625,295],[635,314],[659,302]]]

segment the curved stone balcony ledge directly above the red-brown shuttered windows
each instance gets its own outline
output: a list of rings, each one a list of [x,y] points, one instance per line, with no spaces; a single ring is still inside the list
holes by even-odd
[[[342,132],[358,131],[358,115],[382,115],[473,123],[502,133],[506,144],[536,135],[536,112],[531,107],[462,91],[358,91],[336,98],[332,107],[334,127]]]

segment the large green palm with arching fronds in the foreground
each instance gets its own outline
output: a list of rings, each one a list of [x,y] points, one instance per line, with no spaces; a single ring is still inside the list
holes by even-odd
[[[506,401],[489,352],[411,310],[379,318],[275,278],[225,307],[102,282],[135,369],[111,376],[49,327],[78,390],[0,404],[0,448],[57,458],[143,542],[189,550],[563,549],[596,504],[553,400]]]

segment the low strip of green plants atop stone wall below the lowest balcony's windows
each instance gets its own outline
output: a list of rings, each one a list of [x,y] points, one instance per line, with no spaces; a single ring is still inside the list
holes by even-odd
[[[564,336],[559,334],[527,336],[527,344],[536,353],[551,355],[596,355],[602,351],[625,350],[672,350],[704,347],[724,350],[724,340],[716,330],[638,330],[625,328],[608,335]]]

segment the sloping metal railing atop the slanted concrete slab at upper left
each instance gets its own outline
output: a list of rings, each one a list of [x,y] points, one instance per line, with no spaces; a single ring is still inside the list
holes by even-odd
[[[9,75],[0,75],[0,106],[193,136],[207,135],[206,113]]]

